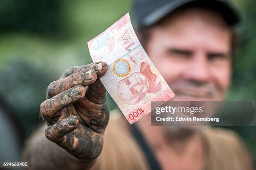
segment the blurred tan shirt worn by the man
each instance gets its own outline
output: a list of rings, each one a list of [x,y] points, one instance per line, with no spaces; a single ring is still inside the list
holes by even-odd
[[[146,157],[123,115],[112,111],[102,153],[92,170],[149,170]],[[126,121],[127,122],[127,121]],[[239,136],[231,130],[205,127],[206,170],[251,170],[251,157]],[[170,169],[172,165],[170,165]]]

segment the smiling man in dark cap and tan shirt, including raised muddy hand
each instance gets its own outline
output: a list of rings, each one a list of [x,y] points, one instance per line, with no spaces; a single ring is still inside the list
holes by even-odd
[[[134,9],[143,47],[175,100],[223,100],[238,22],[228,2],[141,0]],[[105,88],[97,79],[107,69],[104,62],[72,67],[49,85],[40,106],[48,127],[32,136],[24,152],[31,169],[252,168],[240,139],[228,130],[151,126],[150,115],[128,125],[116,110],[108,123]]]

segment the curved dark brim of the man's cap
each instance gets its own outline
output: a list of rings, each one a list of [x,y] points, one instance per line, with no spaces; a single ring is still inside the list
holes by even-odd
[[[240,15],[237,10],[231,7],[227,2],[220,0],[176,0],[170,2],[164,6],[157,8],[148,15],[146,15],[143,20],[141,20],[142,27],[148,27],[154,25],[159,20],[164,18],[166,15],[171,13],[174,10],[177,10],[179,7],[185,5],[196,5],[201,7],[210,7],[218,11],[223,18],[227,21],[230,26],[236,25],[240,21]]]

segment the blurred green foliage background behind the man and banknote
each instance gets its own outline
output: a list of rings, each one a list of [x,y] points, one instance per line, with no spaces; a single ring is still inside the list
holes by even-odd
[[[233,2],[243,23],[227,99],[256,100],[256,1]],[[92,62],[87,41],[128,12],[131,0],[1,1],[0,95],[13,108],[23,140],[42,123],[39,105],[49,83],[68,67]],[[109,96],[108,102],[115,107]],[[256,154],[254,127],[229,128]]]

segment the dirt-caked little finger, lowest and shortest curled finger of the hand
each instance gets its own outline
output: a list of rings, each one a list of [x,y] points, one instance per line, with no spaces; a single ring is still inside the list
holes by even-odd
[[[54,125],[48,126],[44,131],[47,139],[56,142],[67,133],[77,128],[79,120],[76,116],[69,116],[66,119],[59,120]]]

